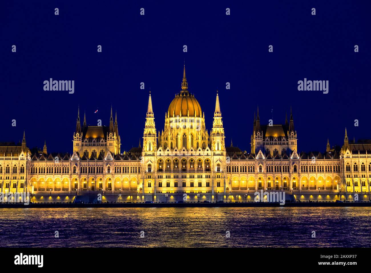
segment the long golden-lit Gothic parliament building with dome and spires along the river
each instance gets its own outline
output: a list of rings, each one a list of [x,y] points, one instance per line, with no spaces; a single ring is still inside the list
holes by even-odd
[[[250,201],[256,191],[284,191],[296,200],[368,200],[371,140],[349,142],[322,152],[298,152],[292,111],[284,124],[260,124],[254,114],[251,150],[225,142],[219,94],[213,127],[183,71],[181,91],[157,132],[151,92],[143,139],[121,153],[117,114],[109,126],[90,126],[78,110],[71,153],[48,153],[22,143],[0,143],[1,192],[29,192],[35,201],[72,201],[86,192],[111,201]],[[187,195],[185,195],[187,194]],[[166,199],[165,199],[166,198]],[[311,199],[312,198],[312,199]],[[110,202],[111,202],[110,201]]]

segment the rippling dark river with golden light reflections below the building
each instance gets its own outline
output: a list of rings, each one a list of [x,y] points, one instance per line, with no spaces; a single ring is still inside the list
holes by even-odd
[[[370,233],[370,207],[0,209],[2,247],[371,247]]]

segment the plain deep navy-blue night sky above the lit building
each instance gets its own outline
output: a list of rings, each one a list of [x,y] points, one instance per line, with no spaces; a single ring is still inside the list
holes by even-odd
[[[109,124],[112,104],[121,150],[138,146],[149,88],[161,130],[184,59],[207,128],[219,88],[226,142],[242,150],[257,104],[263,124],[272,107],[273,122],[283,123],[292,105],[299,151],[325,150],[328,137],[342,144],[345,127],[350,139],[371,138],[370,1],[77,2],[1,2],[0,142],[18,142],[24,129],[29,147],[46,139],[49,152],[71,152],[78,104],[94,125]],[[74,80],[75,93],[44,91],[49,78]],[[329,93],[298,91],[304,78],[328,80]]]

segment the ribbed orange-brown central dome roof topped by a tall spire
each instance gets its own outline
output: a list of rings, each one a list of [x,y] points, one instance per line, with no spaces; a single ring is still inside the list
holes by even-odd
[[[194,95],[188,92],[188,82],[185,77],[185,65],[183,70],[183,82],[182,91],[180,94],[175,95],[173,101],[169,105],[168,116],[189,116],[190,117],[201,117],[201,106],[194,97]],[[175,111],[175,112],[174,112]]]

